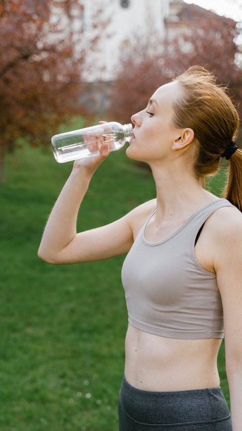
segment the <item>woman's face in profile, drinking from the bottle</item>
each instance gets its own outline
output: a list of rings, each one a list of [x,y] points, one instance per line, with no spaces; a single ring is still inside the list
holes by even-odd
[[[177,97],[181,97],[178,82],[162,85],[149,100],[147,108],[132,115],[134,138],[127,148],[128,157],[149,162],[171,154],[173,141],[179,139],[179,131],[171,127],[172,102]]]

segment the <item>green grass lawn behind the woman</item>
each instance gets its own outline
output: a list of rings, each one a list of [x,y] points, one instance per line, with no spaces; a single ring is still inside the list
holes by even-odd
[[[56,163],[51,151],[29,148],[7,160],[7,184],[0,188],[2,431],[117,430],[127,328],[124,256],[73,266],[37,257],[71,166]],[[154,196],[151,175],[120,150],[96,172],[78,223],[83,229],[106,224]],[[223,347],[219,370],[228,398]]]

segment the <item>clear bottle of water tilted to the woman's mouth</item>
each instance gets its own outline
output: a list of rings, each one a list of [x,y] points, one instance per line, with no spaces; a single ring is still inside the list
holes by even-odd
[[[64,163],[99,154],[104,142],[109,144],[109,151],[119,150],[132,137],[132,124],[122,125],[112,121],[54,135],[51,144],[55,160]]]

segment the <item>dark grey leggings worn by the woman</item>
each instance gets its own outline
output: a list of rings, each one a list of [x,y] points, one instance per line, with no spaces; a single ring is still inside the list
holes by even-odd
[[[178,392],[142,391],[123,379],[119,431],[232,431],[220,387]]]

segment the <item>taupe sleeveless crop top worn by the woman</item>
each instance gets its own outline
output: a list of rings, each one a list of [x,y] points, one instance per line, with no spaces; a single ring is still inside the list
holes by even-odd
[[[233,206],[218,199],[194,214],[163,241],[149,242],[151,212],[122,268],[129,323],[170,338],[223,338],[223,310],[216,274],[195,255],[196,236],[216,209]]]

